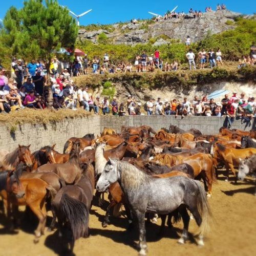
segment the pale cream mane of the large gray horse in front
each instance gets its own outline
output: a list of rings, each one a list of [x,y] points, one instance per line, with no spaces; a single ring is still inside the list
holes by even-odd
[[[124,190],[138,189],[150,183],[151,176],[141,172],[134,165],[117,159],[114,159],[114,161],[116,161],[117,170],[120,170],[121,185]]]

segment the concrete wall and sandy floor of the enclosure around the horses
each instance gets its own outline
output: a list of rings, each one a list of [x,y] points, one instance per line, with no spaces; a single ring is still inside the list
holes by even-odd
[[[161,127],[168,128],[170,124],[181,129],[198,129],[202,134],[218,134],[223,125],[224,118],[219,117],[177,117],[164,116],[88,116],[76,119],[66,119],[61,122],[49,124],[22,124],[14,133],[8,127],[0,125],[0,148],[8,151],[14,150],[18,144],[31,144],[31,152],[42,146],[56,143],[55,149],[62,153],[65,142],[70,137],[82,137],[88,133],[100,135],[104,127],[110,127],[120,132],[121,126],[150,125],[155,131]],[[234,129],[249,131],[254,127],[255,120],[250,125],[242,124],[236,120]],[[190,220],[188,241],[184,245],[177,243],[181,236],[183,224],[179,222],[174,228],[165,227],[164,233],[159,237],[160,219],[157,223],[146,224],[146,240],[148,255],[253,255],[255,253],[255,218],[256,210],[254,184],[252,178],[245,181],[225,182],[224,170],[218,170],[218,183],[212,186],[212,197],[208,202],[212,211],[213,220],[210,231],[205,237],[205,246],[199,247],[194,239],[197,232],[195,220]],[[79,239],[74,247],[75,255],[137,255],[135,250],[139,240],[138,230],[127,231],[124,217],[111,217],[111,224],[103,228],[101,222],[105,215],[106,202],[102,208],[93,202],[90,210],[90,237]],[[24,207],[20,207],[24,210]],[[49,214],[48,214],[49,215]],[[23,212],[20,212],[23,216]],[[33,220],[33,218],[32,218]],[[51,222],[48,216],[47,226]],[[20,228],[9,231],[5,226],[8,220],[0,214],[0,255],[64,255],[63,247],[58,238],[58,232],[45,231],[44,236],[37,244],[33,243],[34,230],[37,225],[30,220],[22,221]]]

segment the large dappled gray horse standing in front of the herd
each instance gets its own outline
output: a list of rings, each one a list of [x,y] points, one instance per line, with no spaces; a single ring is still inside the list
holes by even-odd
[[[145,212],[166,215],[178,209],[184,223],[179,242],[184,243],[188,238],[189,216],[186,210],[188,208],[201,229],[198,244],[204,245],[203,233],[209,228],[211,213],[205,191],[199,181],[182,176],[153,178],[130,163],[109,159],[96,188],[98,191],[105,191],[115,181],[119,182],[138,219],[141,255],[145,255],[147,250]]]

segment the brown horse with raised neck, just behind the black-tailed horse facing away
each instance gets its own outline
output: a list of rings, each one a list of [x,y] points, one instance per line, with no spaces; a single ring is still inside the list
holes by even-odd
[[[69,161],[66,163],[50,163],[39,166],[35,173],[48,173],[52,172],[58,175],[58,177],[65,181],[66,184],[74,184],[78,181],[82,174],[80,167],[79,152],[80,152],[79,140],[73,142],[72,150],[70,152]]]

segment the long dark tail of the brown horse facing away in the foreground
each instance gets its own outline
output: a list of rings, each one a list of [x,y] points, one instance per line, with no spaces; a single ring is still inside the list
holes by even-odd
[[[74,241],[89,236],[89,209],[85,204],[64,194],[60,199],[60,211],[70,223]]]

